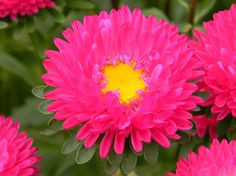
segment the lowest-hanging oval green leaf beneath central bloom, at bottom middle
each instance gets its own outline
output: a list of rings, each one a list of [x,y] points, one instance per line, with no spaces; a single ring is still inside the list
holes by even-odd
[[[121,169],[125,174],[131,173],[137,164],[137,155],[126,149],[121,161]]]

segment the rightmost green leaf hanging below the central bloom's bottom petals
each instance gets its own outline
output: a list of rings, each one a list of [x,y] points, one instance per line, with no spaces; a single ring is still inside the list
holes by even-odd
[[[158,146],[155,142],[144,144],[144,158],[150,164],[155,164],[158,159]]]

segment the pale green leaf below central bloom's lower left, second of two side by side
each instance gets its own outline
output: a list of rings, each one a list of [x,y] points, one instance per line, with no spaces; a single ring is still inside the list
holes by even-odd
[[[81,145],[77,150],[75,162],[77,164],[84,164],[89,162],[95,153],[95,146],[91,148],[85,148],[84,145]]]

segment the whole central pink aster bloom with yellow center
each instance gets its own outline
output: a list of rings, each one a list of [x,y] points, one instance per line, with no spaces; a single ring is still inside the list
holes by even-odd
[[[113,142],[123,153],[128,137],[136,152],[151,140],[169,147],[192,127],[188,111],[201,102],[192,80],[202,73],[176,26],[124,6],[74,21],[63,35],[59,51],[46,51],[42,78],[55,89],[45,97],[64,129],[81,125],[85,147],[102,137],[103,158]]]

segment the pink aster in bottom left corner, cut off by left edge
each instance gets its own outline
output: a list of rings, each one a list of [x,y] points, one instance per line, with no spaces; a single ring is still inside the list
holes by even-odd
[[[39,162],[33,140],[25,132],[19,133],[20,124],[0,115],[0,176],[37,176]]]

